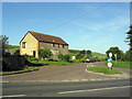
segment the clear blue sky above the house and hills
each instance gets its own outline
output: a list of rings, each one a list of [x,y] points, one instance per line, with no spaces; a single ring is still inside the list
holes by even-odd
[[[129,2],[3,2],[2,33],[19,45],[28,31],[62,37],[70,50],[123,52],[130,26]]]

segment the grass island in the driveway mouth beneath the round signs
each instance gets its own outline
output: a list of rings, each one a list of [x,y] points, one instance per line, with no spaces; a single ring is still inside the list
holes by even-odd
[[[110,69],[107,67],[97,67],[97,66],[89,67],[88,70],[92,70],[95,73],[108,74],[108,75],[121,74],[121,72],[117,69]]]

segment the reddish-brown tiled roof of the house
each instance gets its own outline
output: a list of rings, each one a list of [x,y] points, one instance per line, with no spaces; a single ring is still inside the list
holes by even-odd
[[[61,37],[29,31],[37,41],[68,45]]]

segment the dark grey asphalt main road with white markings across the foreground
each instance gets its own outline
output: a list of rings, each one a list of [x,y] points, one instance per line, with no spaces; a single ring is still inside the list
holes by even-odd
[[[3,82],[2,97],[130,97],[130,79]]]

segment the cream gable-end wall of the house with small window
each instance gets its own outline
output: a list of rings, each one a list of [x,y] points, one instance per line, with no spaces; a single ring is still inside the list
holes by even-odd
[[[22,48],[22,42],[26,42],[25,48]],[[30,33],[21,41],[20,43],[20,54],[21,55],[33,55],[33,51],[35,51],[35,57],[37,58],[37,50],[38,50],[38,42],[37,40]]]

